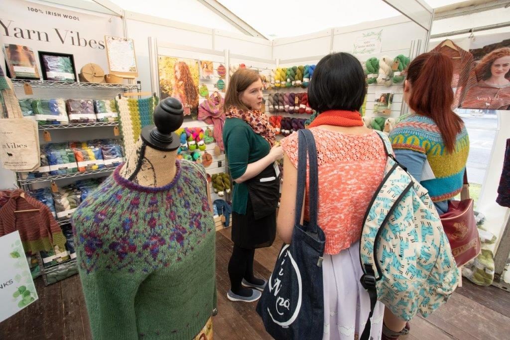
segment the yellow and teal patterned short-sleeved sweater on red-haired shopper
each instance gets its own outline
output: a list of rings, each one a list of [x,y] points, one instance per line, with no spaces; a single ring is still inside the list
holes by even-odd
[[[457,134],[455,151],[446,152],[443,137],[429,117],[413,114],[398,123],[390,134],[394,150],[412,150],[426,155],[435,179],[421,181],[433,202],[450,200],[462,190],[469,153],[465,127]]]

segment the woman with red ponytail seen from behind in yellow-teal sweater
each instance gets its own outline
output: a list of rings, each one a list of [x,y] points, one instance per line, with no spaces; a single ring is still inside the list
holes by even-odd
[[[427,190],[441,215],[462,190],[469,153],[464,123],[452,110],[451,60],[439,53],[419,55],[407,68],[404,101],[412,114],[397,124],[390,141],[397,161]],[[383,339],[409,333],[409,325],[385,311]]]

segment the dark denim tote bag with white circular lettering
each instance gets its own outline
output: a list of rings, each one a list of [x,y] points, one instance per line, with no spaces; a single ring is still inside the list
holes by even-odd
[[[321,339],[324,329],[322,257],[326,236],[317,225],[317,149],[310,130],[298,131],[296,216],[292,241],[283,245],[257,305],[266,331],[275,339]],[[310,167],[310,221],[300,224]]]

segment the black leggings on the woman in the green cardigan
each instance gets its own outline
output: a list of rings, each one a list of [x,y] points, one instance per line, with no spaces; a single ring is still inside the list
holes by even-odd
[[[242,289],[241,282],[243,278],[248,282],[253,281],[254,257],[254,249],[245,249],[234,245],[232,256],[228,262],[228,276],[234,294],[238,294]]]

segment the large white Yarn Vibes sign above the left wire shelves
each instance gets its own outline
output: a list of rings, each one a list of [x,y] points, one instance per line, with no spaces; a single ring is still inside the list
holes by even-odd
[[[88,14],[22,0],[2,0],[0,40],[37,51],[74,55],[78,69],[93,62],[106,69],[105,35],[122,36],[116,16]],[[37,60],[37,64],[38,60]]]

